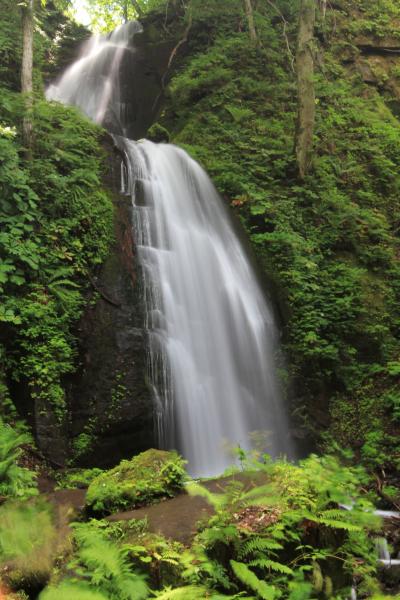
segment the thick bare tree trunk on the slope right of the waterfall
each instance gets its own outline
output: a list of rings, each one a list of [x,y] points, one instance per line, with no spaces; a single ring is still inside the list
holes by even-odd
[[[316,0],[301,0],[297,42],[298,119],[296,131],[296,158],[299,175],[303,179],[312,159],[315,125],[315,85],[313,40],[316,18]]]

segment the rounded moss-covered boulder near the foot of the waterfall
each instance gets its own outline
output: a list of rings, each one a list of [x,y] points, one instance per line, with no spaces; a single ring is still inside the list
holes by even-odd
[[[187,478],[184,464],[176,452],[165,450],[147,450],[123,460],[92,481],[86,506],[94,514],[107,515],[172,498]]]

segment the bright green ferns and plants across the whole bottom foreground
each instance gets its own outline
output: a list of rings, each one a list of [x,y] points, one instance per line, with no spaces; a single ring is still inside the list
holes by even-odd
[[[377,571],[382,523],[361,467],[332,456],[298,465],[261,456],[245,457],[243,468],[245,480],[225,477],[217,493],[190,484],[213,515],[186,546],[151,533],[151,511],[149,521],[91,519],[66,530],[42,503],[8,503],[0,508],[0,574],[17,592],[32,589],[32,580],[47,584],[40,600],[345,600],[352,586],[360,598],[388,593]],[[30,548],[38,527],[43,533]]]

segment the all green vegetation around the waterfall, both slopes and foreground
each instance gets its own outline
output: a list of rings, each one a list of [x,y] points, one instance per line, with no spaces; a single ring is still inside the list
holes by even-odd
[[[92,4],[104,25],[110,7]],[[188,32],[151,135],[202,162],[247,230],[277,299],[293,427],[321,453],[294,465],[239,449],[241,468],[217,492],[188,485],[213,514],[182,543],[143,520],[91,518],[182,494],[188,477],[175,453],[57,474],[60,487],[89,488],[78,513],[39,494],[26,419],[51,415],[55,430],[67,419],[64,378],[77,368],[76,324],[109,251],[113,209],[103,132],[42,98],[43,78],[82,28],[51,4],[36,14],[28,153],[20,8],[1,0],[0,597],[344,600],[352,587],[360,598],[398,597],[398,573],[379,567],[376,544],[388,535],[394,555],[399,535],[383,532],[373,507],[400,504],[400,70],[379,50],[400,47],[400,9],[338,0],[325,14],[324,4],[314,157],[302,180],[298,3],[253,2],[259,43],[241,0],[138,3],[160,38]]]

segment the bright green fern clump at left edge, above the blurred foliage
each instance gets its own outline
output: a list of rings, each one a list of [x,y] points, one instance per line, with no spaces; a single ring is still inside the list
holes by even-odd
[[[4,498],[26,498],[37,493],[36,474],[18,465],[21,446],[29,436],[16,433],[0,418],[0,501]]]

